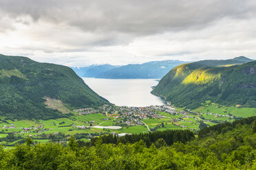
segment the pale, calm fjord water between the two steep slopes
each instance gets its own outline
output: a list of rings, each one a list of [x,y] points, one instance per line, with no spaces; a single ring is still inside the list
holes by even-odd
[[[98,95],[116,106],[164,105],[164,101],[150,92],[158,82],[154,79],[96,79],[83,78]]]

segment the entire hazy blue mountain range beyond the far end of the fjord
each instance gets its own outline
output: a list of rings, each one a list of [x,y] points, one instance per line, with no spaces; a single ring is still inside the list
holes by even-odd
[[[92,65],[86,67],[72,67],[80,77],[96,77],[105,79],[160,79],[175,66],[186,62],[178,60],[164,60],[146,62],[144,64],[128,64],[113,66],[109,64]]]

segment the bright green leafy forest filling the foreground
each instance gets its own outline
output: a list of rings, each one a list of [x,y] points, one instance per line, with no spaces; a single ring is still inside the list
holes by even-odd
[[[33,145],[27,138],[26,145],[7,151],[0,147],[0,169],[256,169],[255,117],[207,127],[200,131],[203,136],[186,143],[167,145],[162,134],[153,132],[149,138],[155,142],[148,146],[101,140],[83,145],[74,137],[67,145]]]

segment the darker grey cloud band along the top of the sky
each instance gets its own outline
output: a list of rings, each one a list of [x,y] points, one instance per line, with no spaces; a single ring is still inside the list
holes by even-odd
[[[204,27],[223,17],[254,17],[255,1],[68,1],[2,0],[1,12],[10,17],[29,15],[34,21],[67,23],[85,32],[156,34]]]

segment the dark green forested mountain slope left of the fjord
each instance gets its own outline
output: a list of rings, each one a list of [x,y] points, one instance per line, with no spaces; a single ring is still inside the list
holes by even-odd
[[[108,103],[67,66],[0,55],[0,115],[17,119],[63,117],[44,102],[57,99],[67,109]],[[54,100],[52,100],[54,101]]]

